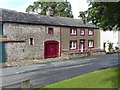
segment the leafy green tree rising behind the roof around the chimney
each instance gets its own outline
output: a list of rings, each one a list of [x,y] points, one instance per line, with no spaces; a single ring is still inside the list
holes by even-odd
[[[73,18],[72,8],[70,2],[34,2],[34,5],[29,5],[26,9],[28,13],[37,13],[39,15],[46,15],[48,7],[52,7],[54,16]]]

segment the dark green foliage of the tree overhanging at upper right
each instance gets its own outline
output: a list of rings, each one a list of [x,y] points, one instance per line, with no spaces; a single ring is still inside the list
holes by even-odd
[[[83,21],[92,22],[103,30],[120,30],[119,2],[90,2],[88,10],[80,11]]]

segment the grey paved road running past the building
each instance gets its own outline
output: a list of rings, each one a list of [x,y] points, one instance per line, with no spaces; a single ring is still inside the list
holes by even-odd
[[[27,79],[30,79],[31,87],[35,88],[116,66],[120,64],[118,63],[119,56],[118,54],[109,54],[47,64],[3,68],[0,79],[2,79],[4,88],[20,88],[20,82]]]

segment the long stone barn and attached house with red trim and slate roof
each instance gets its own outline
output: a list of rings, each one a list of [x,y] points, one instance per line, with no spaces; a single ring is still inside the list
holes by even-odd
[[[99,28],[80,19],[0,9],[0,62],[60,57],[100,47]]]

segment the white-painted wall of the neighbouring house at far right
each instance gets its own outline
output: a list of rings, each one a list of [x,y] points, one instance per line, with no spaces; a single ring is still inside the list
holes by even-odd
[[[104,43],[106,43],[106,52],[108,52],[108,43],[113,43],[113,49],[115,47],[120,48],[120,31],[112,30],[112,31],[103,31],[100,32],[100,48],[104,49]]]

